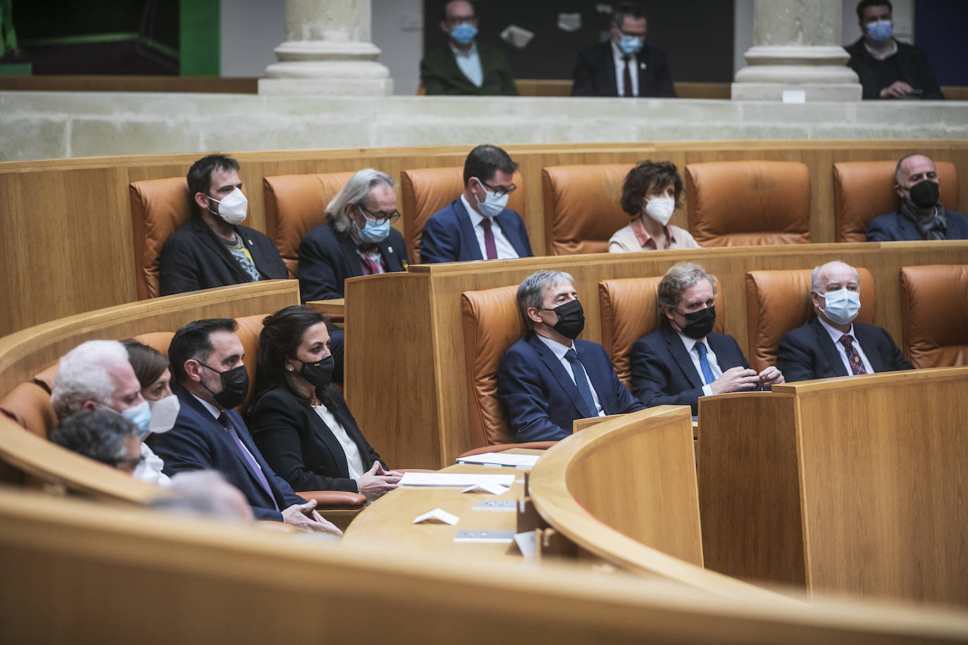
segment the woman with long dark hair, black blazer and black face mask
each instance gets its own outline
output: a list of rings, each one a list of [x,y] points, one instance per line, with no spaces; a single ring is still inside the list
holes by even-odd
[[[318,311],[294,306],[265,317],[249,427],[265,460],[295,489],[360,492],[372,502],[401,475],[383,467],[329,382],[328,343]]]

